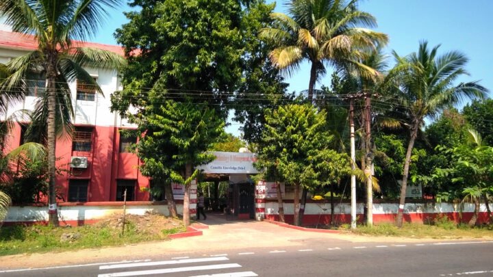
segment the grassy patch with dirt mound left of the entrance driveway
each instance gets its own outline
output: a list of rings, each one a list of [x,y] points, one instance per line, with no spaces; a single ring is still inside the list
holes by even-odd
[[[162,215],[127,216],[125,233],[120,217],[76,227],[15,225],[0,227],[0,256],[121,246],[141,241],[163,240],[186,228],[179,220]]]

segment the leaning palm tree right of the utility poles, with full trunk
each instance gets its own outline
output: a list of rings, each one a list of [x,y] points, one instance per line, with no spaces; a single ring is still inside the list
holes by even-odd
[[[407,57],[399,57],[394,51],[396,66],[389,73],[399,78],[399,90],[394,96],[395,105],[405,114],[403,118],[407,120],[403,124],[409,129],[409,144],[404,161],[401,200],[396,220],[399,227],[403,222],[411,153],[418,131],[425,124],[425,118],[434,118],[442,109],[465,99],[483,98],[488,92],[477,81],[456,84],[457,78],[468,75],[464,68],[468,58],[457,51],[438,56],[439,47],[440,45],[429,50],[428,43],[424,41],[420,42],[418,53],[414,52]]]

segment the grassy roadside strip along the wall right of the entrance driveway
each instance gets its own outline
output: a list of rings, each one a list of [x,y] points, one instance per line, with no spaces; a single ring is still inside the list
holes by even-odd
[[[350,230],[350,226],[341,226]],[[493,237],[493,230],[488,226],[470,228],[465,224],[454,222],[435,222],[434,225],[404,223],[402,228],[394,224],[378,224],[375,226],[357,226],[352,233],[371,236],[409,237],[416,239],[461,239],[464,237]]]

